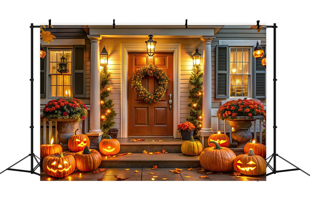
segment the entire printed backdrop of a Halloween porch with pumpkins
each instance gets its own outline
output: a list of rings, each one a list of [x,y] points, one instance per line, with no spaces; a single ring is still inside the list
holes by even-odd
[[[40,42],[41,181],[266,181],[264,26],[42,26]]]

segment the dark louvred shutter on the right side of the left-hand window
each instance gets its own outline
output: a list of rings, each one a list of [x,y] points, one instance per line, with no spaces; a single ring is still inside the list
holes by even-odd
[[[73,45],[73,97],[86,97],[86,46]]]

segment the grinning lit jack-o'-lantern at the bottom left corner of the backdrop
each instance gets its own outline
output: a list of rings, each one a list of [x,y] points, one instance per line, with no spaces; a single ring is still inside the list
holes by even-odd
[[[55,153],[44,157],[42,166],[46,174],[62,178],[75,170],[76,163],[72,153]]]

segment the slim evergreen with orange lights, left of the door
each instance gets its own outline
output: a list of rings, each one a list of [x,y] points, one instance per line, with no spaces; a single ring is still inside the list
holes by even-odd
[[[104,64],[103,69],[100,71],[100,100],[104,101],[103,104],[100,104],[100,116],[104,115],[105,118],[100,118],[100,128],[104,133],[102,137],[108,136],[108,130],[113,127],[115,122],[113,121],[116,116],[116,112],[114,110],[113,100],[108,99],[109,91],[107,90],[109,85],[110,73],[108,72],[108,65]],[[110,109],[111,112],[107,113],[107,110]]]

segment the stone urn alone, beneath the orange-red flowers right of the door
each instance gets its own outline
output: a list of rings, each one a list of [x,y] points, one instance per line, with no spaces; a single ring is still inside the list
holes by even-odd
[[[249,128],[252,127],[252,122],[255,119],[262,118],[263,116],[236,116],[234,119],[225,118],[229,120],[230,126],[235,130],[231,133],[231,137],[237,141],[237,148],[243,148],[252,139],[252,133],[249,131]]]

